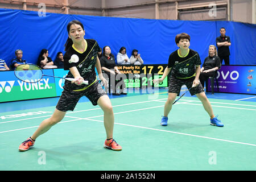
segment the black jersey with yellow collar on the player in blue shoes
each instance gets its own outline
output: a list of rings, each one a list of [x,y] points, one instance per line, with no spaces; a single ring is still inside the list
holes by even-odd
[[[188,54],[180,56],[179,49],[172,52],[168,60],[168,68],[172,68],[171,76],[176,78],[191,78],[196,76],[195,68],[201,65],[200,56],[196,51],[189,49]]]

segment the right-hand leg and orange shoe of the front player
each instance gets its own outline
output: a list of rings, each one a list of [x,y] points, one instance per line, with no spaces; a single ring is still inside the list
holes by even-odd
[[[107,136],[104,147],[115,151],[122,150],[122,147],[113,139],[114,112],[109,97],[107,95],[101,96],[98,99],[97,104],[104,111],[104,127]]]

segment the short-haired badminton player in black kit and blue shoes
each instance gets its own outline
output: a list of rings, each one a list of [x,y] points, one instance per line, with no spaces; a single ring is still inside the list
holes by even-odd
[[[191,95],[196,95],[202,102],[205,111],[209,114],[210,125],[214,126],[224,126],[221,121],[214,116],[212,106],[205,95],[204,88],[199,81],[200,75],[200,65],[201,60],[199,54],[192,49],[190,46],[190,36],[186,33],[181,33],[176,35],[175,42],[179,49],[172,52],[169,60],[168,66],[164,70],[163,76],[159,79],[153,80],[154,83],[159,83],[164,80],[164,78],[170,73],[170,82],[168,89],[168,100],[164,105],[164,115],[160,122],[160,125],[167,126],[168,114],[172,109],[172,104],[177,96],[179,96],[180,89],[182,85],[186,85],[191,93]]]

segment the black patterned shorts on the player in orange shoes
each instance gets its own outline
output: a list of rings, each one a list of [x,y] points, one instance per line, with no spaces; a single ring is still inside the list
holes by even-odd
[[[104,89],[100,84],[100,81],[96,80],[91,85],[79,90],[69,90],[63,86],[63,92],[60,96],[60,100],[57,103],[56,109],[60,111],[74,110],[77,102],[82,96],[87,97],[94,106],[97,105],[97,101],[101,96],[106,95]]]

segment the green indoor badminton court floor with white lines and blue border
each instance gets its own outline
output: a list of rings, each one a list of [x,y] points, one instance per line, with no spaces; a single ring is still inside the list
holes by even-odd
[[[31,150],[19,152],[59,98],[1,103],[0,170],[255,170],[256,96],[207,96],[224,127],[210,126],[201,102],[189,93],[172,107],[166,127],[159,123],[167,89],[110,95],[122,151],[103,147],[103,112],[83,98]]]

